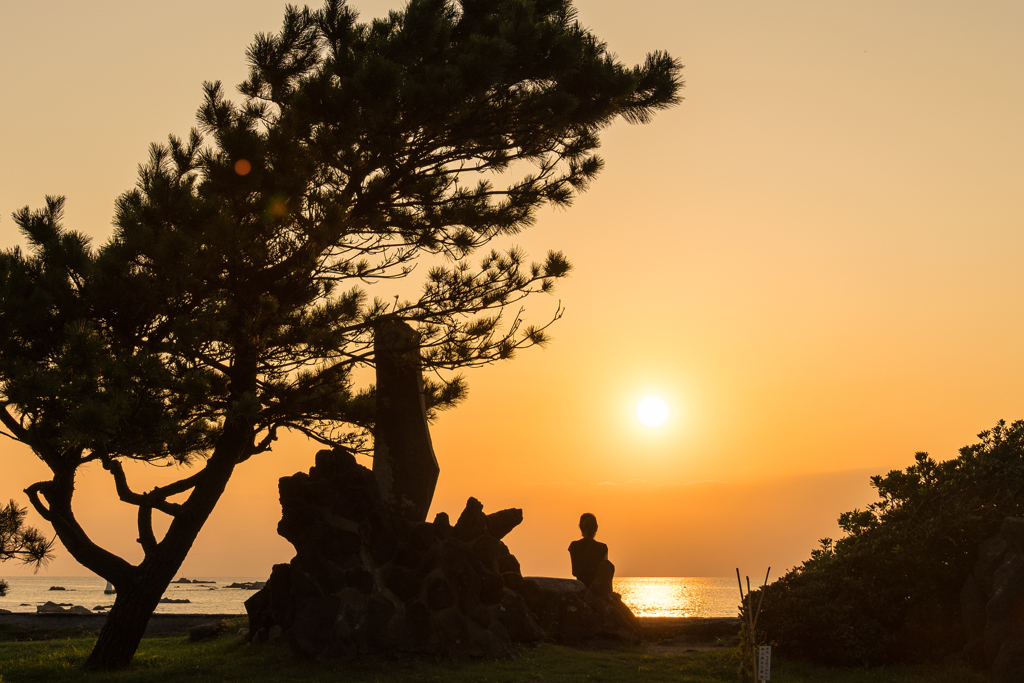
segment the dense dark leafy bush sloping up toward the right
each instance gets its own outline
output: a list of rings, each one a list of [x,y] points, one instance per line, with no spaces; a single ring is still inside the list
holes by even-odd
[[[965,645],[959,593],[1007,516],[1024,514],[1024,422],[999,422],[959,457],[919,453],[871,477],[879,501],[847,533],[771,584],[758,623],[779,654],[827,664],[945,656]]]

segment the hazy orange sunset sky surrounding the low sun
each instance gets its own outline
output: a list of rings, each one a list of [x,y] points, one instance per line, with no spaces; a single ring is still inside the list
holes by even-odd
[[[11,212],[54,194],[101,244],[148,144],[188,131],[203,81],[244,79],[285,5],[0,4],[0,248],[20,241]],[[433,426],[431,515],[470,496],[522,508],[505,541],[526,574],[568,575],[589,511],[618,575],[777,577],[871,502],[871,474],[1024,418],[1024,5],[575,5],[624,61],[676,56],[685,100],[607,129],[590,191],[513,241],[570,258],[528,304],[565,315],[548,348],[467,374]],[[633,411],[651,394],[670,408],[657,429]],[[288,561],[276,479],[315,451],[287,437],[242,466],[180,573]],[[152,469],[139,488],[169,474]],[[0,472],[20,505],[46,476],[13,441]],[[109,475],[78,490],[93,538],[140,559]],[[57,554],[47,573],[87,573]]]

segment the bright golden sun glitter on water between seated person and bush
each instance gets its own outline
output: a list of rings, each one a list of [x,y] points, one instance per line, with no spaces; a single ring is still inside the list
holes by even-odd
[[[735,616],[738,589],[719,577],[622,577],[614,591],[637,616]]]

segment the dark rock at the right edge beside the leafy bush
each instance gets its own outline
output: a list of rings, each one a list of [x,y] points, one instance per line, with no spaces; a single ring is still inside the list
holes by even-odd
[[[1024,681],[1024,517],[1007,517],[981,544],[961,609],[964,658],[987,669],[993,683]]]

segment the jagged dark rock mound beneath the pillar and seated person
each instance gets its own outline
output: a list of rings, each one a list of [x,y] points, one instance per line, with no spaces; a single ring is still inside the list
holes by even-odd
[[[503,542],[522,511],[485,514],[476,499],[453,525],[413,521],[388,505],[347,452],[322,451],[283,477],[278,531],[295,546],[246,601],[250,639],[284,640],[308,657],[369,652],[502,656],[513,643],[637,640],[629,609],[574,580],[524,579]]]

